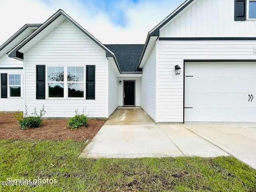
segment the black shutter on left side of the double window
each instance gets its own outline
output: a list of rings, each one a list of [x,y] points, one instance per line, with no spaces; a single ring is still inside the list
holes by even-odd
[[[45,99],[45,65],[36,65],[36,99]]]

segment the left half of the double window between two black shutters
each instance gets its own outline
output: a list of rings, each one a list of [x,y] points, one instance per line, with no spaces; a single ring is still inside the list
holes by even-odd
[[[64,67],[48,67],[48,97],[64,97]]]

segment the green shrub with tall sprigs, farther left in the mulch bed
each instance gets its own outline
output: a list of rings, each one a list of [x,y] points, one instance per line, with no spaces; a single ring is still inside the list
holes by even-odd
[[[43,105],[43,108],[42,108],[42,110],[40,110],[39,114],[37,113],[36,108],[35,108],[34,112],[31,114],[32,116],[28,116],[28,108],[26,106],[24,118],[22,119],[20,117],[21,114],[23,114],[23,113],[18,114],[18,116],[15,115],[15,117],[18,120],[20,128],[22,128],[22,129],[37,128],[37,127],[40,127],[41,124],[43,123],[42,116],[44,116],[45,113],[46,113],[46,111],[44,110],[44,105]]]

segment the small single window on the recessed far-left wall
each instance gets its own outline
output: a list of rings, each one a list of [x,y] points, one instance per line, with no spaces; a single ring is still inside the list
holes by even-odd
[[[21,96],[21,75],[9,74],[9,96],[20,97]]]

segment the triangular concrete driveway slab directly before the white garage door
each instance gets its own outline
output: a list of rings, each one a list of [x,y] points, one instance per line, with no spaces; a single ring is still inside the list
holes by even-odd
[[[185,124],[183,126],[256,169],[256,124]]]

